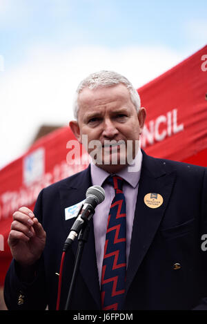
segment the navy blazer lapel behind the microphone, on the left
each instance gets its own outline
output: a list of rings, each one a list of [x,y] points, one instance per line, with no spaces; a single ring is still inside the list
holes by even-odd
[[[73,204],[77,204],[81,200],[86,199],[86,191],[91,184],[91,177],[90,177],[90,166],[88,169],[84,170],[83,172],[77,174],[74,178],[70,179],[70,182],[65,183],[61,187],[59,187],[59,193],[61,198],[61,207],[63,210],[66,207],[70,207]],[[66,237],[69,234],[70,228],[72,227],[73,223],[75,222],[75,218],[70,220],[65,220],[65,215],[63,218],[64,224],[64,231]],[[95,237],[93,231],[93,222],[90,220],[89,222],[89,236],[88,242],[86,242],[83,255],[81,258],[81,263],[79,267],[79,271],[81,276],[86,282],[90,293],[92,294],[93,298],[95,299],[98,307],[101,305],[101,296],[100,296],[100,288],[99,288],[99,275],[97,270],[97,258],[95,252]],[[79,245],[79,241],[75,240],[72,243],[72,251],[73,253],[77,254],[77,247]]]

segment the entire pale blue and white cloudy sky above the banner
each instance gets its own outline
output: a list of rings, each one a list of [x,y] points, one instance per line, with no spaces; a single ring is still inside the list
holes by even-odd
[[[42,124],[67,125],[102,69],[139,88],[206,45],[206,0],[0,0],[0,168]]]

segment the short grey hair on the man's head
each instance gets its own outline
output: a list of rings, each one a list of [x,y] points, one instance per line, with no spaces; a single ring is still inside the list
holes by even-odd
[[[135,105],[135,108],[138,112],[139,108],[141,107],[141,100],[139,94],[137,93],[137,90],[132,86],[128,79],[114,71],[101,70],[99,72],[95,72],[88,75],[88,77],[83,79],[83,81],[81,81],[81,83],[77,87],[73,103],[73,113],[75,119],[77,120],[77,115],[79,111],[79,94],[84,88],[95,89],[98,87],[115,86],[116,84],[124,84],[126,88],[128,88],[130,93],[130,99],[132,100],[132,103]]]

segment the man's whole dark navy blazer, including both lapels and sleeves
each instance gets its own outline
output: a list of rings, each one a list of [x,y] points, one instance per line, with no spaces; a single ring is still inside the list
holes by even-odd
[[[55,309],[63,243],[74,222],[64,209],[86,198],[91,186],[88,169],[50,185],[39,193],[34,214],[46,231],[46,247],[32,283],[18,277],[13,260],[4,295],[8,309]],[[164,199],[159,208],[144,203],[147,193]],[[96,216],[98,217],[98,215]],[[143,152],[139,192],[126,274],[124,309],[207,309],[206,168],[152,158]],[[78,241],[66,254],[60,308],[68,296]],[[178,264],[178,265],[176,265]],[[21,305],[17,301],[21,298]],[[70,309],[101,309],[93,224],[83,256]]]

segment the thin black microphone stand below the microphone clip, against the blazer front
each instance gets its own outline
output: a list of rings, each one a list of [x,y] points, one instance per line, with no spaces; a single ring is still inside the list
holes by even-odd
[[[71,283],[70,283],[70,289],[69,289],[69,292],[68,292],[68,298],[67,298],[67,301],[66,301],[65,310],[69,309],[69,305],[70,305],[70,301],[71,301],[71,297],[72,297],[72,292],[73,292],[73,289],[75,287],[75,281],[76,281],[76,278],[77,278],[77,272],[79,270],[79,265],[80,265],[81,257],[82,257],[82,254],[83,254],[83,247],[84,247],[85,243],[88,240],[89,230],[90,230],[90,227],[87,224],[86,227],[83,227],[81,229],[80,233],[79,233],[79,237],[78,237],[79,245],[78,245],[77,254],[76,254],[76,257],[75,257],[75,266],[74,266],[74,269],[73,269],[72,280],[71,280]]]

